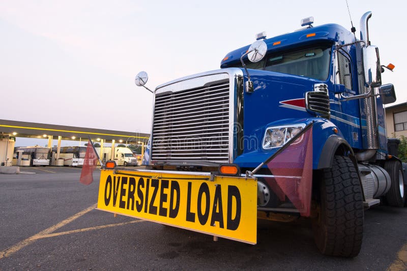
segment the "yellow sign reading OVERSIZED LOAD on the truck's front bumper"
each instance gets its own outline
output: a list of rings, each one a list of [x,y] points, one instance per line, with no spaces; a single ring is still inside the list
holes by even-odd
[[[102,170],[98,209],[257,242],[255,179]]]

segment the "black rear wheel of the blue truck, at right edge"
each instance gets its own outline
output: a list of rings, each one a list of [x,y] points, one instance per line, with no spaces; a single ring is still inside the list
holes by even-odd
[[[394,207],[403,207],[405,202],[403,169],[399,161],[387,161],[385,170],[390,175],[391,186],[386,194],[387,204]]]

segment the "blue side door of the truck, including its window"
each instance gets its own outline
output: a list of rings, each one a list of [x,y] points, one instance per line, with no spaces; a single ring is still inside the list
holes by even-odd
[[[360,127],[360,105],[359,100],[344,100],[343,97],[350,97],[357,94],[358,77],[356,67],[356,57],[352,58],[348,52],[339,49],[335,53],[334,61],[335,88],[343,88],[341,94],[334,94],[334,99],[330,101],[331,120],[342,132],[345,140],[354,148],[361,148],[361,127]]]

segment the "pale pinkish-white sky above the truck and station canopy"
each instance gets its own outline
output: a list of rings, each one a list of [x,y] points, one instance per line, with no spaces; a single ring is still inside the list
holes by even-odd
[[[393,63],[395,104],[407,101],[405,5],[348,0],[359,38],[366,11],[369,38],[381,64]],[[0,119],[147,132],[152,94],[147,86],[219,69],[234,49],[299,29],[338,23],[351,28],[339,1],[16,1],[0,0]]]

